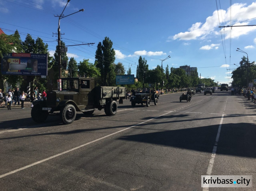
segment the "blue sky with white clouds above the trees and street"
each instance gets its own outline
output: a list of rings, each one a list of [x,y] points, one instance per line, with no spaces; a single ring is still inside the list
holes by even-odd
[[[230,8],[230,3],[232,4]],[[22,40],[27,33],[40,37],[53,55],[57,45],[58,17],[65,0],[0,0],[0,28],[5,34],[17,29]],[[66,45],[95,43],[94,46],[68,47],[67,55],[79,63],[94,63],[95,51],[105,36],[113,42],[115,63],[131,67],[136,75],[138,59],[147,60],[149,69],[161,66],[197,67],[201,77],[231,83],[232,70],[245,53],[256,61],[256,26],[222,28],[227,25],[255,25],[256,1],[251,0],[71,0],[60,20]],[[218,10],[218,11],[217,11]],[[254,19],[255,18],[255,19]],[[255,76],[256,78],[256,76]]]

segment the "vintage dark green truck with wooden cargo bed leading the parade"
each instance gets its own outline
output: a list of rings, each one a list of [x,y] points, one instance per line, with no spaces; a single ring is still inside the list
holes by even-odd
[[[125,87],[94,87],[94,78],[62,78],[61,91],[48,91],[46,98],[33,103],[31,117],[35,122],[44,122],[48,115],[56,114],[64,124],[71,124],[77,111],[93,114],[98,109],[104,109],[108,116],[117,112],[117,103],[125,99]]]

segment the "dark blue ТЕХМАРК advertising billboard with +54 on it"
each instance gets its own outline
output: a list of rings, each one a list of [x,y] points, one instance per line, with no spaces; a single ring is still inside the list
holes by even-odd
[[[1,60],[3,75],[45,75],[47,76],[47,54],[9,53]]]

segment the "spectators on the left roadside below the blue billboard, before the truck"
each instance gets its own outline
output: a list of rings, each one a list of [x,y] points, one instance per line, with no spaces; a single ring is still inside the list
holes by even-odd
[[[39,93],[38,87],[35,87],[33,92],[30,95],[27,95],[24,91],[20,91],[17,87],[16,90],[12,90],[11,88],[4,93],[2,89],[0,89],[0,106],[4,106],[3,102],[5,102],[5,106],[7,106],[8,110],[12,109],[12,105],[20,105],[22,109],[24,109],[25,99],[30,99],[31,108],[33,107],[33,102],[35,100],[40,100],[41,97],[46,98],[45,89],[42,93]]]

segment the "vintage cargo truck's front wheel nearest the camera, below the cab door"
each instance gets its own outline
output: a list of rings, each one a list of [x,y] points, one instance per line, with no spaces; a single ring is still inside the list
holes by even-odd
[[[66,104],[60,109],[60,120],[64,124],[71,124],[75,120],[76,110],[72,104]]]

